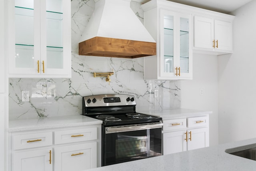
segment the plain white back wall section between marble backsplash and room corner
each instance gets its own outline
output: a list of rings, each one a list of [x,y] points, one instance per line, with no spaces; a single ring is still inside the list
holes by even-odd
[[[210,114],[210,145],[218,144],[218,59],[193,54],[193,80],[182,80],[181,107],[213,111]],[[203,95],[200,95],[200,90]]]

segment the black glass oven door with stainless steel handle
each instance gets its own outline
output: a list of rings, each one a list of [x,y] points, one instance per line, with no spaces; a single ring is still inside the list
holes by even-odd
[[[162,155],[162,125],[105,127],[102,166]]]

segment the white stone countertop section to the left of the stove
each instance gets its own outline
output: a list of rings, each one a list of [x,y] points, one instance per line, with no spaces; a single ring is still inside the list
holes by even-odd
[[[102,124],[102,121],[84,115],[40,117],[35,119],[15,119],[9,121],[9,132],[94,124]]]

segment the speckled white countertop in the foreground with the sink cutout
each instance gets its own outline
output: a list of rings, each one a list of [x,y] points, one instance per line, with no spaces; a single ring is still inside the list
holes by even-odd
[[[253,144],[253,145],[248,145]],[[240,147],[248,145],[246,147]],[[235,149],[230,149],[234,148]],[[119,163],[86,171],[255,171],[256,161],[225,152],[256,147],[256,138]]]

